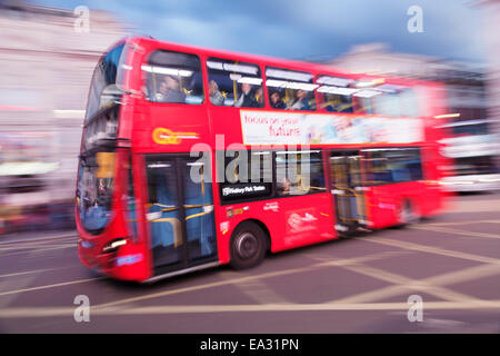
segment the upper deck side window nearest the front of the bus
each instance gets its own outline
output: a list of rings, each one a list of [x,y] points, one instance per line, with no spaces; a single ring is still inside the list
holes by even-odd
[[[146,97],[153,102],[202,103],[203,77],[197,56],[157,50],[141,66]]]

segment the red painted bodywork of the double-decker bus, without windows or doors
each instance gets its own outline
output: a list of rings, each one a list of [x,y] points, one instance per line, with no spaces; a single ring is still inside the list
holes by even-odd
[[[122,97],[118,136],[123,147],[117,149],[116,184],[112,199],[112,217],[108,226],[100,235],[92,236],[86,233],[81,226],[77,212],[77,228],[81,237],[79,244],[80,260],[89,267],[118,279],[143,281],[153,277],[152,257],[150,246],[150,231],[146,220],[146,205],[148,202],[147,177],[144,170],[144,157],[148,154],[164,152],[190,152],[211,151],[212,170],[216,171],[214,151],[227,149],[231,144],[242,142],[242,127],[240,109],[232,107],[217,107],[208,100],[208,76],[204,61],[209,57],[238,59],[252,62],[261,68],[264,78],[266,66],[274,66],[296,70],[308,70],[314,75],[344,76],[356,78],[357,76],[341,73],[329,67],[319,65],[301,63],[273,58],[247,56],[232,52],[212,51],[194,47],[164,43],[153,39],[131,38],[128,44],[136,48],[130,55],[129,62],[133,68],[140,68],[147,61],[148,55],[156,49],[169,49],[193,53],[200,57],[204,102],[202,105],[183,103],[159,103],[149,102],[138,93],[142,86],[141,71],[130,71],[128,81],[131,90]],[[358,76],[360,77],[360,76]],[[368,77],[368,76],[363,76]],[[437,83],[421,82],[417,80],[386,78],[388,83],[400,83],[412,87],[427,87],[439,89]],[[264,90],[266,86],[263,86]],[[429,90],[431,90],[429,89]],[[267,92],[264,92],[268,98]],[[317,95],[318,97],[318,95]],[[442,209],[443,192],[439,186],[440,171],[437,168],[443,164],[439,151],[441,134],[436,130],[433,116],[440,115],[437,96],[428,96],[424,103],[426,140],[414,142],[413,147],[420,147],[422,151],[423,180],[383,186],[371,186],[364,190],[367,220],[370,228],[384,228],[393,226],[397,220],[397,208],[403,199],[410,199],[418,208],[421,216],[431,216]],[[267,103],[258,111],[272,111]],[[311,111],[310,113],[327,113],[324,110]],[[328,112],[329,115],[334,115]],[[357,113],[341,113],[342,116],[359,116]],[[217,135],[223,135],[223,139],[216,139]],[[183,139],[176,140],[174,137],[182,136]],[[173,137],[173,138],[172,138]],[[193,149],[193,145],[199,145]],[[398,147],[401,145],[322,145],[317,146],[327,149],[361,149],[363,147]],[[251,146],[247,146],[251,148]],[[311,148],[314,148],[312,146]],[[127,190],[128,179],[124,162],[132,157],[133,187],[136,194],[138,236],[131,236],[127,226],[127,212],[122,196]],[[327,164],[327,159],[324,158]],[[438,162],[438,164],[437,164]],[[324,165],[327,192],[310,194],[306,196],[284,197],[240,204],[221,204],[219,185],[213,182],[213,205],[216,219],[216,234],[219,264],[230,261],[229,243],[234,228],[242,221],[254,220],[269,234],[270,249],[273,253],[291,249],[304,245],[316,244],[338,238],[334,229],[336,208],[334,198],[330,194],[329,167]],[[130,243],[120,247],[114,254],[102,254],[102,248],[109,241],[117,238],[128,238]],[[83,246],[84,245],[84,246]],[[89,247],[90,246],[90,247]],[[126,256],[141,256],[134,264],[116,265],[117,258]]]

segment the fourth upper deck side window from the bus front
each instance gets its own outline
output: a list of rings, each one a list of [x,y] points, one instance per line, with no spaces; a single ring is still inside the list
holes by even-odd
[[[352,95],[357,89],[351,88],[352,79],[320,76],[316,81],[320,107],[331,112],[352,112]]]

